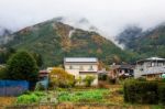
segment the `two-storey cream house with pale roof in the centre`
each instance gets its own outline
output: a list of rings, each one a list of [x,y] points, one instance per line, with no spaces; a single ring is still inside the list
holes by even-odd
[[[77,79],[95,76],[91,85],[98,85],[98,58],[96,57],[66,57],[64,58],[64,68]]]

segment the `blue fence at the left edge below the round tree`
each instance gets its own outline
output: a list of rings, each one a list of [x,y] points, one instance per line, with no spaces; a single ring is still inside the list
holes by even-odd
[[[0,80],[0,96],[19,96],[29,90],[25,80]]]

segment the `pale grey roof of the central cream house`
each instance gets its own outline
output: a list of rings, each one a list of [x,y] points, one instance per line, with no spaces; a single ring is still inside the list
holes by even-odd
[[[96,57],[65,57],[65,63],[97,63],[98,58]]]

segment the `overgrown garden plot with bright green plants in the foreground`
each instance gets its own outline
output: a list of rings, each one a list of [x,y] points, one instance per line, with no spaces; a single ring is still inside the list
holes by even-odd
[[[110,85],[109,88],[97,87],[75,87],[70,89],[56,88],[48,91],[26,91],[23,95],[14,98],[9,98],[8,107],[38,107],[38,106],[52,106],[63,107],[59,109],[163,109],[162,105],[148,105],[148,103],[130,103],[124,102],[123,89],[121,85]],[[66,108],[70,107],[70,108]],[[57,109],[58,109],[57,108]],[[18,108],[19,109],[19,108]],[[20,108],[21,109],[21,108]]]

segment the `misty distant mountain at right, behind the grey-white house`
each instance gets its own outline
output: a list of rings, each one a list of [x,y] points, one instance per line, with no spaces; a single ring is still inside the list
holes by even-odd
[[[125,48],[138,52],[145,57],[165,57],[164,24],[147,31],[142,31],[140,28],[128,28],[118,35],[117,41],[124,44]]]

